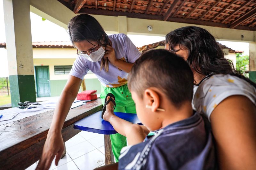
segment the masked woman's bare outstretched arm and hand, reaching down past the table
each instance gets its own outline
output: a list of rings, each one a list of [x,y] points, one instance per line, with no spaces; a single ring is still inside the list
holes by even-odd
[[[48,131],[47,138],[44,143],[43,153],[36,169],[49,169],[55,156],[55,165],[57,166],[64,150],[61,129],[70,107],[76,98],[81,83],[82,80],[80,78],[69,76],[68,82],[61,92],[60,100],[54,110],[52,124]]]

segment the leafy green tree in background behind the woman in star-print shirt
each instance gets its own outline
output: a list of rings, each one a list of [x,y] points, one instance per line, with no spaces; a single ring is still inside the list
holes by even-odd
[[[243,74],[245,77],[249,77],[249,55],[244,55],[243,53],[236,53],[236,70]]]

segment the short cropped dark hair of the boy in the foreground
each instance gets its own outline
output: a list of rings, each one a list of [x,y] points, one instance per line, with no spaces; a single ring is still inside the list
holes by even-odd
[[[164,49],[145,52],[134,63],[128,87],[141,98],[149,87],[156,87],[178,108],[192,101],[193,72],[183,58]]]

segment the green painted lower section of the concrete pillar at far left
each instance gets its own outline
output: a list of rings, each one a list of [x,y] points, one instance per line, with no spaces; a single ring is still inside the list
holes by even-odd
[[[34,75],[9,76],[12,107],[17,107],[19,102],[36,102],[36,87]]]

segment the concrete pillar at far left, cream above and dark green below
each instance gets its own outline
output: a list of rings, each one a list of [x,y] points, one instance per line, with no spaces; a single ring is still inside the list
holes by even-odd
[[[4,0],[4,24],[12,107],[36,101],[30,0]]]

